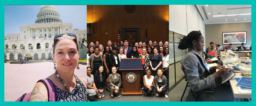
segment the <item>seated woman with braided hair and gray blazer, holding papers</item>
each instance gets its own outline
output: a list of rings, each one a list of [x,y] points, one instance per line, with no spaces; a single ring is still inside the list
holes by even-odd
[[[187,101],[234,101],[230,87],[222,85],[222,76],[229,72],[223,66],[209,67],[198,51],[204,47],[204,37],[200,31],[192,31],[180,40],[178,48],[188,48],[188,52],[181,61],[191,91]],[[220,67],[222,69],[220,69]],[[220,69],[216,72],[216,69]],[[198,94],[202,90],[215,89],[214,93]]]

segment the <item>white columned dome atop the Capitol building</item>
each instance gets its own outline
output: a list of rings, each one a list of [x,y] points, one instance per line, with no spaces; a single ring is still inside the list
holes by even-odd
[[[37,14],[35,23],[61,22],[57,8],[53,5],[43,5]]]

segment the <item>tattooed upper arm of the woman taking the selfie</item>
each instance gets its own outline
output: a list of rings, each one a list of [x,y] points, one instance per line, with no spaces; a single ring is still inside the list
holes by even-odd
[[[29,101],[48,101],[48,98],[45,98],[43,93],[40,91],[40,87],[36,86],[31,92]]]

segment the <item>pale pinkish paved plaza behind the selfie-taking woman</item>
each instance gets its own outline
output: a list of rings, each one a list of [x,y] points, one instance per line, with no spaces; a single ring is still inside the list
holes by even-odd
[[[79,64],[80,69],[75,69],[75,75],[86,76],[86,65]],[[15,101],[22,94],[29,93],[40,79],[52,75],[53,62],[32,63],[32,64],[10,64],[5,63],[5,101]]]

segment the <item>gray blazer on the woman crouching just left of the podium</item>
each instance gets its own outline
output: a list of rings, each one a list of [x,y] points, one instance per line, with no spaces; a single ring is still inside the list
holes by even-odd
[[[118,88],[120,88],[120,86],[121,86],[121,75],[120,74],[118,74],[118,73],[116,73],[116,76],[117,76],[117,82],[115,82],[115,80],[114,80],[114,75],[113,75],[113,73],[111,73],[109,76],[108,76],[108,78],[109,78],[109,80],[108,80],[108,86],[112,86],[112,87],[115,87],[115,86],[117,86]]]

